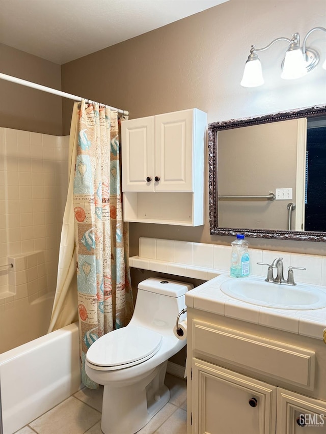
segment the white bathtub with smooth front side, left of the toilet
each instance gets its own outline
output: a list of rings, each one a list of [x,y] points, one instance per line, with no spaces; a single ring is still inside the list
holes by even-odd
[[[78,345],[74,323],[0,355],[3,434],[12,434],[80,388]]]

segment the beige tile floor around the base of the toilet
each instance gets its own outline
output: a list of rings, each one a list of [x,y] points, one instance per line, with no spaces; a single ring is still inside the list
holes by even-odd
[[[186,380],[166,375],[170,401],[138,434],[186,434]],[[84,388],[44,413],[16,434],[101,434],[103,388]]]

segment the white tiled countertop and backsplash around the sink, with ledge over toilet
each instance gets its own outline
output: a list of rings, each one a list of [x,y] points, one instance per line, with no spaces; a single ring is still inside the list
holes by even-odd
[[[162,242],[170,246],[169,255],[165,252],[162,254],[162,249],[157,248]],[[146,237],[141,237],[139,243],[140,253],[147,256],[129,258],[130,267],[160,272],[166,269],[168,274],[207,281],[200,286],[196,308],[290,333],[322,338],[323,329],[326,327],[326,308],[298,311],[271,309],[238,301],[220,291],[221,282],[227,278],[223,274],[227,273],[230,267],[231,246]],[[257,262],[271,263],[276,257],[283,257],[285,278],[288,266],[305,267],[306,270],[294,270],[295,281],[321,285],[320,290],[326,292],[326,256],[260,249],[249,249],[249,254],[252,275],[267,275],[267,267],[257,265]],[[203,258],[207,259],[207,266]],[[271,290],[272,288],[273,286]]]

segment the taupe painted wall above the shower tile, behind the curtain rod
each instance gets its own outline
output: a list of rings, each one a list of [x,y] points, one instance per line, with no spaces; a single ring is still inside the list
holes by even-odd
[[[60,65],[0,44],[0,72],[61,89]],[[0,127],[62,135],[61,97],[0,80]]]

